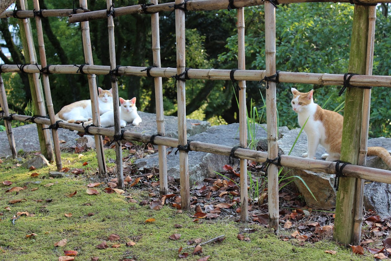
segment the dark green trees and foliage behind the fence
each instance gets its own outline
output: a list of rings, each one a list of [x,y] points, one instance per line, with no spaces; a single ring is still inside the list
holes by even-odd
[[[40,0],[42,9],[72,8],[71,1]],[[171,1],[165,1],[171,2]],[[116,7],[143,4],[144,1],[115,1]],[[31,9],[32,2],[29,1]],[[106,9],[104,1],[88,1],[90,10]],[[347,72],[352,16],[354,6],[346,3],[283,4],[276,9],[276,68],[291,72],[334,73]],[[391,21],[388,4],[377,7],[374,75],[391,75]],[[264,7],[246,7],[246,68],[265,69]],[[149,15],[131,14],[114,19],[116,58],[118,65],[150,66],[151,19]],[[84,63],[80,24],[69,24],[67,18],[42,19],[48,64]],[[36,49],[35,23],[32,22]],[[6,64],[25,63],[18,36],[16,19],[0,20],[0,33],[11,58],[0,52]],[[96,65],[109,65],[108,32],[106,20],[90,22],[93,59]],[[176,67],[175,15],[160,13],[160,43],[162,67]],[[186,13],[186,66],[191,68],[237,68],[236,11],[203,11]],[[37,52],[39,54],[39,52]],[[24,114],[31,99],[27,76],[18,73],[2,74],[9,105]],[[83,75],[50,75],[50,87],[55,111],[80,99],[89,99],[87,78]],[[98,86],[111,88],[109,76],[97,76]],[[154,112],[153,81],[146,77],[122,76],[118,81],[120,97],[136,97],[138,109]],[[247,82],[248,106],[259,110],[264,106],[265,85]],[[290,89],[307,92],[314,89],[314,99],[321,106],[334,110],[344,101],[338,97],[341,86],[280,83],[277,86],[279,125],[298,127],[297,115],[290,110]],[[188,117],[205,119],[212,124],[237,122],[237,90],[230,81],[186,82]],[[391,137],[391,97],[386,87],[372,89],[371,137]],[[176,115],[174,79],[163,79],[164,110]],[[330,98],[330,99],[329,99]],[[327,101],[327,104],[325,104]],[[266,122],[265,115],[261,122]]]

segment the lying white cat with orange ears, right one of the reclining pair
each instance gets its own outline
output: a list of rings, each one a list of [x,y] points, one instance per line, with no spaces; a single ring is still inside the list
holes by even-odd
[[[136,97],[133,97],[131,100],[125,100],[120,97],[120,126],[124,128],[126,123],[132,123],[133,125],[138,125],[142,120],[137,113],[136,107]],[[92,121],[84,122],[84,126],[91,124]],[[111,127],[114,126],[114,111],[109,111],[103,113],[100,116],[100,126],[101,127]]]

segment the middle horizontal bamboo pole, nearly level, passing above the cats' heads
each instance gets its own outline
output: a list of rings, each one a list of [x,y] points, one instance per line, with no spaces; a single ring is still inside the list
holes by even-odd
[[[80,65],[77,65],[80,66]],[[20,65],[2,65],[3,72],[20,72]],[[124,76],[147,77],[147,72],[141,72],[147,67],[121,66],[118,74]],[[41,66],[26,65],[23,72],[39,73]],[[49,72],[52,74],[77,74],[78,67],[74,65],[51,65]],[[110,67],[105,65],[84,65],[83,72],[86,74],[109,74]],[[223,69],[190,69],[188,77],[190,79],[206,80],[230,80],[231,70]],[[151,68],[152,77],[171,78],[176,74],[176,68]],[[265,70],[236,70],[235,80],[237,81],[260,81],[266,76]],[[308,83],[317,85],[343,85],[343,74],[313,74],[307,72],[279,72],[281,83]],[[391,87],[391,76],[378,75],[355,75],[350,79],[350,85],[354,86],[384,86]]]

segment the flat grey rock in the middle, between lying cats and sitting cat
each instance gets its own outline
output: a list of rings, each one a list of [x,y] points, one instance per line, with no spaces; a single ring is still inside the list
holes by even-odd
[[[256,141],[261,146],[265,146],[267,142],[267,133],[262,128],[265,124],[258,126],[256,131]],[[287,127],[279,129],[280,135],[288,131]],[[239,145],[239,123],[229,125],[212,126],[203,133],[189,137],[189,140],[207,142],[212,144],[219,144],[224,146],[238,146]],[[266,147],[263,147],[267,149]],[[176,151],[176,148],[174,148]],[[167,173],[169,176],[179,178],[179,153],[175,155],[172,151],[167,155]],[[223,155],[213,153],[206,153],[201,151],[190,151],[188,153],[189,162],[189,179],[190,183],[203,180],[206,177],[213,177],[216,175],[214,171],[222,171],[222,166],[228,164],[229,158]],[[238,161],[235,161],[238,162]],[[136,166],[139,169],[144,167],[152,168],[159,165],[158,154],[155,153],[145,158],[136,160]]]

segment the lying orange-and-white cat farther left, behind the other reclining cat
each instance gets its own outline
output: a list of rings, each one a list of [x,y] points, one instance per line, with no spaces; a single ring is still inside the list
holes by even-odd
[[[103,90],[98,88],[99,114],[113,110],[112,89]],[[56,115],[56,121],[66,121],[69,123],[80,123],[92,120],[91,100],[76,101],[65,105]]]

